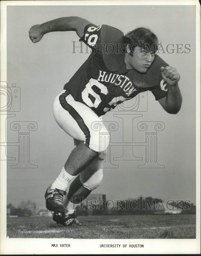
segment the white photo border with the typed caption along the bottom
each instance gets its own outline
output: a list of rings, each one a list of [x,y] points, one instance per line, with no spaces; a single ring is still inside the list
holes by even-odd
[[[1,161],[1,254],[132,254],[133,250],[101,250],[100,243],[143,243],[136,254],[200,253],[200,5],[198,0],[169,1],[1,1],[1,81],[7,81],[6,10],[8,5],[196,5],[196,239],[45,239],[6,238],[6,162]],[[5,127],[1,127],[5,129]],[[71,243],[71,248],[52,248],[52,243]],[[79,244],[79,246],[78,246]],[[172,249],[174,248],[174,250]],[[107,248],[105,248],[107,249]],[[112,249],[112,248],[110,248]],[[114,248],[113,248],[114,249]]]

